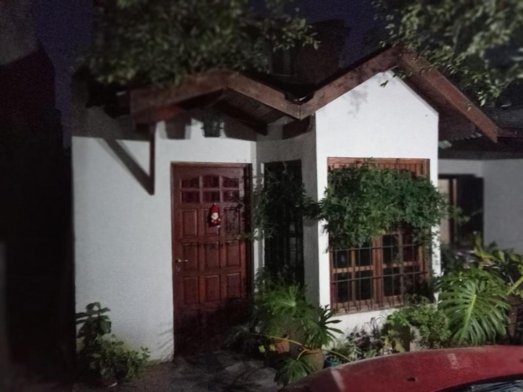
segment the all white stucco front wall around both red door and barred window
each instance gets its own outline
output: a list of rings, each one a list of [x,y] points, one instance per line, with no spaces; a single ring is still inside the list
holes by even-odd
[[[386,79],[389,84],[380,87]],[[316,113],[315,121],[315,130],[293,139],[281,140],[280,126],[275,125],[267,137],[258,136],[257,141],[252,131],[237,129],[226,132],[229,137],[206,139],[196,120],[178,124],[177,131],[160,123],[155,194],[150,195],[129,170],[129,163],[125,165],[121,159],[128,154],[138,171],[147,173],[149,144],[130,140],[139,139],[129,134],[130,124],[110,120],[99,109],[76,113],[77,310],[100,301],[112,309],[113,332],[121,339],[135,347],[149,347],[152,359],[172,356],[170,162],[252,163],[256,176],[263,163],[301,159],[305,189],[315,199],[323,197],[328,157],[426,158],[430,159],[430,178],[437,181],[438,114],[390,73],[379,74],[329,103]],[[113,142],[108,144],[101,136]],[[328,236],[323,225],[305,221],[304,239],[308,297],[328,305]],[[262,260],[261,250],[255,244],[254,269],[258,260]],[[438,272],[439,260],[435,257],[433,261]],[[385,314],[345,315],[340,317],[340,328],[351,330]]]

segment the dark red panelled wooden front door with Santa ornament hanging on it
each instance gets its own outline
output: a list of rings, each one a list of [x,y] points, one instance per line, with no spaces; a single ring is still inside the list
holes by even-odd
[[[217,348],[245,313],[250,165],[173,164],[175,351]],[[210,224],[220,208],[221,225]]]

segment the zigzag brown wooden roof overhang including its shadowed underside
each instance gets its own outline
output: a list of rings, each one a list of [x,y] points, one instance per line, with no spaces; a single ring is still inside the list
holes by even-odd
[[[130,93],[135,123],[152,124],[198,107],[213,107],[259,133],[282,117],[288,126],[308,126],[318,109],[380,72],[400,68],[410,85],[439,113],[439,139],[462,140],[482,134],[496,142],[497,125],[426,60],[413,53],[387,49],[305,97],[292,97],[275,87],[230,71],[192,75],[177,87],[143,88]],[[286,125],[286,126],[287,126]]]

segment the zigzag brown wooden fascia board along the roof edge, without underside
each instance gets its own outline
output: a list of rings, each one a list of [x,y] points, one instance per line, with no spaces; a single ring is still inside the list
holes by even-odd
[[[182,102],[219,90],[232,90],[254,99],[295,119],[303,120],[329,102],[380,72],[400,67],[407,73],[419,75],[423,86],[418,86],[421,95],[431,93],[444,100],[445,105],[458,112],[492,141],[497,140],[497,125],[467,98],[450,80],[430,67],[422,57],[398,49],[386,49],[370,60],[339,76],[331,83],[316,90],[309,100],[291,102],[283,91],[260,83],[257,80],[231,71],[211,71],[186,77],[173,88],[143,88],[130,93],[131,114],[136,122],[154,122],[174,117]]]

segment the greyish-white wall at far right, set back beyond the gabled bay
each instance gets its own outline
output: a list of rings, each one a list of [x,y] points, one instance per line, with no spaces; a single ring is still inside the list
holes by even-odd
[[[523,159],[441,159],[439,174],[483,178],[485,243],[523,252]]]

